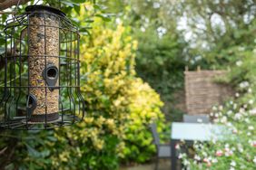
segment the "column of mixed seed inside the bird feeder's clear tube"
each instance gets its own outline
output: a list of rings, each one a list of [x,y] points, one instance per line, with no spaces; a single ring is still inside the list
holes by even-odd
[[[26,10],[30,11],[31,8]],[[48,121],[53,121],[59,118],[59,90],[54,88],[59,86],[59,21],[51,14],[33,14],[30,16],[29,24],[28,65],[29,83],[32,86],[30,96],[37,99],[37,106],[31,111],[30,120],[44,122],[46,116]],[[49,83],[51,80],[54,83]]]

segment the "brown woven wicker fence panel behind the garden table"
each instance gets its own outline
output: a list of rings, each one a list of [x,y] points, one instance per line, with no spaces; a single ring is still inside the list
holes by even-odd
[[[209,114],[212,106],[232,96],[231,87],[214,80],[225,73],[226,71],[184,71],[187,114]]]

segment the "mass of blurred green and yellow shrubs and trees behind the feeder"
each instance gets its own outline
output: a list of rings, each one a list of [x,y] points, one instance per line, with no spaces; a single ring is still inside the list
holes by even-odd
[[[116,169],[120,161],[150,160],[155,148],[147,125],[158,119],[158,130],[164,131],[166,119],[181,120],[185,112],[186,66],[229,70],[222,81],[241,93],[244,80],[256,87],[254,0],[61,3],[83,35],[87,116],[74,127],[54,131],[2,132],[0,149],[8,154],[1,156],[0,169]],[[44,4],[59,6],[54,0]],[[19,7],[19,12],[25,9]],[[3,14],[2,30],[6,18]],[[238,102],[243,105],[254,96]]]

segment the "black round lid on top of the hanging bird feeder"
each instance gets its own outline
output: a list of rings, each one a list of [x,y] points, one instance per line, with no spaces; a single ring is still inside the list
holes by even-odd
[[[25,7],[26,12],[36,12],[36,11],[48,11],[50,13],[58,14],[60,16],[65,16],[64,12],[61,10],[45,5],[29,5]]]

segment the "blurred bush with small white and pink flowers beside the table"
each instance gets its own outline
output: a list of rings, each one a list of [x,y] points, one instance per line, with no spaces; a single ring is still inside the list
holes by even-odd
[[[255,52],[238,51],[243,58],[234,61],[225,78],[237,92],[224,105],[212,108],[213,122],[227,127],[230,137],[222,141],[195,142],[192,156],[185,153],[179,156],[188,169],[256,168]]]

